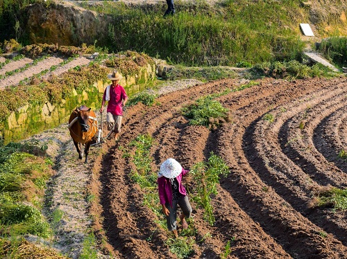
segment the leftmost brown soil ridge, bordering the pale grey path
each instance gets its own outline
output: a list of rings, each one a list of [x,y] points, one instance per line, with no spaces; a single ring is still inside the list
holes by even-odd
[[[141,229],[142,231],[139,232],[137,219],[141,217],[133,213],[139,204],[138,192],[133,190],[128,177],[125,177],[129,173],[124,172],[122,168],[126,163],[125,159],[115,148],[112,148],[111,152],[115,154],[107,154],[104,157],[111,163],[103,163],[102,167],[102,170],[108,173],[101,175],[104,229],[108,240],[118,252],[117,256],[121,258],[143,258],[141,249],[134,249],[137,246],[147,248],[144,249],[146,255],[155,257],[155,253],[149,253],[152,250],[142,236],[144,233],[149,233],[154,226],[151,228],[151,221],[142,219],[141,223],[146,224],[147,229]],[[114,192],[113,189],[117,191]]]

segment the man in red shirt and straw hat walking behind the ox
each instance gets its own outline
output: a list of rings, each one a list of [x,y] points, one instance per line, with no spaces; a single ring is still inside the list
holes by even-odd
[[[103,106],[108,101],[108,109],[106,114],[106,120],[108,124],[108,130],[115,125],[115,141],[118,141],[119,133],[121,132],[121,119],[123,118],[123,107],[126,105],[128,96],[124,88],[118,84],[122,78],[121,74],[115,70],[108,74],[108,79],[112,81],[108,87],[106,87],[103,93],[103,101],[101,102],[100,112],[103,112]]]

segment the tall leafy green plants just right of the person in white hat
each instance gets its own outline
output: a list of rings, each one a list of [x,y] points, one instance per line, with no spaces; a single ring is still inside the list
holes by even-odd
[[[211,196],[217,195],[219,175],[228,175],[229,168],[217,155],[211,153],[208,162],[196,163],[192,166],[189,174],[192,175],[194,187],[192,199],[204,209],[203,217],[210,224],[214,224]]]

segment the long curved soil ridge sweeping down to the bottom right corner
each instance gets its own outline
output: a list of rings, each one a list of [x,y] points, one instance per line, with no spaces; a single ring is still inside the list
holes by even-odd
[[[310,84],[312,85],[312,82]],[[257,100],[235,111],[234,124],[226,125],[218,140],[219,153],[232,169],[230,177],[222,186],[228,189],[239,206],[251,215],[253,220],[259,221],[266,232],[276,238],[291,256],[301,258],[303,255],[311,254],[312,258],[321,258],[321,256],[338,258],[346,252],[346,247],[331,235],[322,242],[319,236],[319,231],[322,229],[312,224],[271,191],[270,186],[262,182],[248,163],[248,159],[250,161],[255,159],[255,155],[248,154],[247,146],[251,143],[252,121],[266,113],[271,103],[280,105],[291,100],[293,96],[303,96],[322,87],[319,84],[314,85],[313,89],[312,86],[308,87],[305,84],[298,87],[291,84],[283,85],[280,93]],[[249,128],[245,130],[246,127]],[[242,139],[244,139],[244,149]],[[248,154],[248,159],[244,152]],[[329,249],[326,249],[327,247]]]

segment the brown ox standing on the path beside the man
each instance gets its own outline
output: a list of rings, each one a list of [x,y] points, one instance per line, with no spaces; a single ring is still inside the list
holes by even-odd
[[[85,145],[85,163],[88,163],[87,157],[93,136],[98,132],[98,125],[94,111],[82,105],[72,111],[69,118],[68,128],[70,136],[74,140],[79,159],[83,159],[81,144]]]

